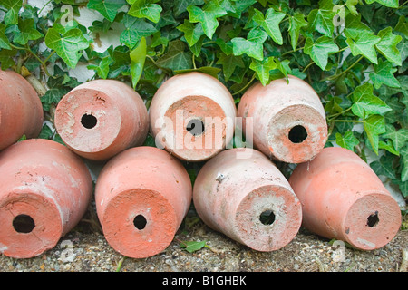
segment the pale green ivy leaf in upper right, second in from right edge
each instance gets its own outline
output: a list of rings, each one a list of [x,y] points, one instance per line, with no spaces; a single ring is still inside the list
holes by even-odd
[[[370,62],[377,64],[377,54],[375,53],[374,45],[379,43],[380,37],[373,34],[359,34],[355,38],[355,42],[347,37],[346,43],[351,49],[354,56],[362,54]]]

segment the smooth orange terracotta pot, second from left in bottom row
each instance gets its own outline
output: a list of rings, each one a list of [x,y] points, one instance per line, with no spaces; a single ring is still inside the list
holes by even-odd
[[[95,202],[103,234],[124,256],[154,256],[168,247],[191,203],[189,174],[165,150],[124,150],[103,167]]]

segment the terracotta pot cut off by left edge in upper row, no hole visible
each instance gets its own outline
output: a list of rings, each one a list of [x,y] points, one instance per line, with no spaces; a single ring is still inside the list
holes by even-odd
[[[0,70],[0,150],[23,135],[35,138],[43,128],[43,105],[23,76]]]

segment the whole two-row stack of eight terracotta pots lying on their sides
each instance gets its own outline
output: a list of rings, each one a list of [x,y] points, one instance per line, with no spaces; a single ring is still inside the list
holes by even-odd
[[[12,145],[38,135],[43,111],[24,78],[0,73],[0,251],[7,256],[37,256],[78,223],[92,198],[84,160],[102,161],[96,211],[124,256],[166,249],[192,201],[205,224],[257,251],[285,247],[301,225],[369,250],[384,247],[401,224],[398,205],[363,160],[324,149],[323,105],[294,76],[254,84],[238,110],[228,88],[204,73],[171,77],[149,112],[123,82],[85,82],[55,111],[65,147],[35,139]],[[231,149],[237,121],[254,149]],[[141,146],[149,130],[158,148]],[[183,162],[199,161],[192,187]],[[289,180],[276,161],[297,164]]]

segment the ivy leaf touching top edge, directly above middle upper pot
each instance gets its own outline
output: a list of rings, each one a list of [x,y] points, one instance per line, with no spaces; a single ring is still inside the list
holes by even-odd
[[[211,0],[206,5],[201,8],[194,5],[189,5],[187,7],[189,11],[189,21],[192,23],[200,23],[204,34],[212,38],[212,35],[215,33],[217,27],[219,27],[219,21],[217,18],[227,14],[218,3],[217,0]]]

